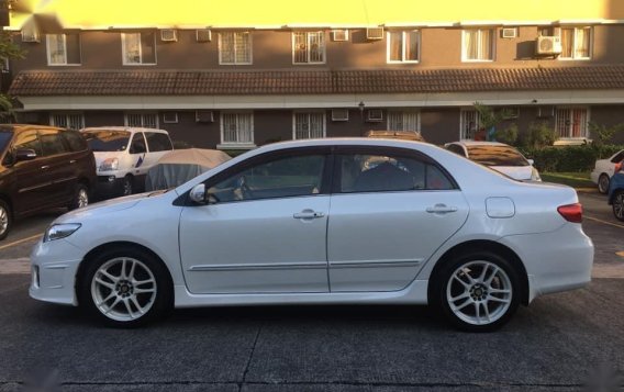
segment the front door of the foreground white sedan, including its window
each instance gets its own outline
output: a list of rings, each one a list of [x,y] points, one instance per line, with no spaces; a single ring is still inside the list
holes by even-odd
[[[324,149],[263,156],[209,179],[210,202],[180,216],[189,291],[327,292],[327,157]]]

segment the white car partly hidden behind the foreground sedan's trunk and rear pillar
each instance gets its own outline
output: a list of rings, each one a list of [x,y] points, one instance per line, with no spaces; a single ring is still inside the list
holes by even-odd
[[[461,141],[445,144],[446,149],[488,166],[521,181],[542,181],[533,160],[526,159],[517,149],[497,142]]]

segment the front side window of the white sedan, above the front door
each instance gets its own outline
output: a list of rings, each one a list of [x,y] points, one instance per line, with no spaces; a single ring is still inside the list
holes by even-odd
[[[220,181],[209,193],[218,202],[317,194],[324,166],[324,155],[278,158]]]

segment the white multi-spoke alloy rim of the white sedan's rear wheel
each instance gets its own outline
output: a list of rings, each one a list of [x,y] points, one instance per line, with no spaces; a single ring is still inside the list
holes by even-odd
[[[446,285],[450,311],[470,325],[488,325],[505,315],[513,287],[508,273],[490,261],[470,261],[457,268]]]

